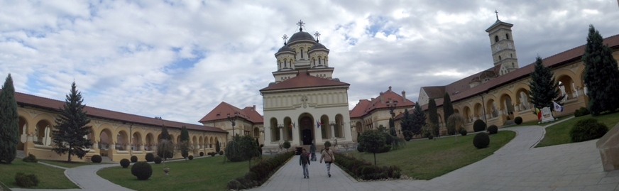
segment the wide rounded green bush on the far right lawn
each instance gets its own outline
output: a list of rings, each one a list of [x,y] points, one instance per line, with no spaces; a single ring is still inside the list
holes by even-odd
[[[597,119],[582,119],[570,129],[569,136],[572,142],[589,141],[604,136],[608,132],[605,124]]]

